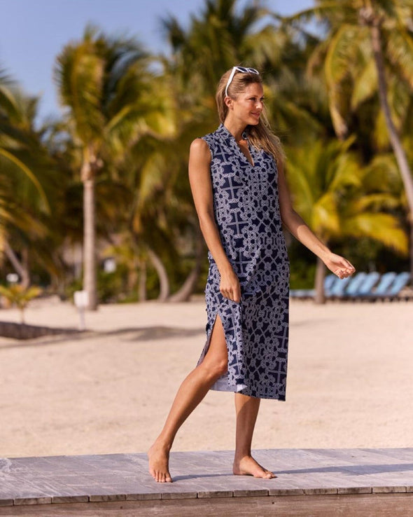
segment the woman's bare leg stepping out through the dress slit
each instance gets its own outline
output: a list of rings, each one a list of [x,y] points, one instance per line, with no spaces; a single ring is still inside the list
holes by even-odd
[[[228,368],[228,351],[223,324],[216,317],[211,342],[204,360],[183,380],[169,411],[162,432],[148,451],[149,471],[155,481],[172,482],[169,474],[169,450],[179,427],[200,404],[209,388]]]

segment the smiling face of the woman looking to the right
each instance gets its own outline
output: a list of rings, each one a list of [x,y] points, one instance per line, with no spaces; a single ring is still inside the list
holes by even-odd
[[[257,125],[263,109],[264,90],[260,83],[252,83],[238,94],[237,99],[230,99],[229,114],[245,125]]]

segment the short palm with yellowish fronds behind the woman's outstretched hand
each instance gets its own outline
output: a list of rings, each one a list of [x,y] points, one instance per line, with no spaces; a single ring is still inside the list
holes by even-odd
[[[318,238],[328,244],[346,237],[370,237],[400,253],[407,252],[407,237],[391,211],[400,196],[391,188],[385,160],[360,167],[349,151],[353,139],[316,142],[288,153],[288,184],[297,212]],[[388,160],[388,158],[387,158]],[[382,182],[372,181],[374,174]],[[325,301],[325,266],[318,258],[316,303]]]

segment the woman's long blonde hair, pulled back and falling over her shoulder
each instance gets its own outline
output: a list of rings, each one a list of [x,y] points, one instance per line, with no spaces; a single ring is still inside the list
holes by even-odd
[[[221,123],[224,123],[228,115],[228,106],[225,104],[225,88],[230,78],[232,69],[229,69],[221,77],[218,88],[216,89],[216,106],[218,107],[218,116]],[[228,86],[228,97],[237,99],[239,93],[244,92],[245,88],[253,83],[262,84],[262,78],[259,74],[236,72],[232,78],[231,84]],[[248,139],[255,149],[266,151],[274,156],[277,165],[282,165],[285,155],[279,137],[274,135],[269,127],[265,106],[262,110],[260,121],[257,125],[248,125]]]

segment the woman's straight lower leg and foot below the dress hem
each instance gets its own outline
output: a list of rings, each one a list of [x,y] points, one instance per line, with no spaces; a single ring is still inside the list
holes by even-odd
[[[235,394],[235,411],[237,412],[237,435],[235,458],[232,471],[237,475],[254,476],[255,478],[275,478],[269,470],[261,467],[251,456],[251,442],[255,422],[257,420],[260,399]]]

